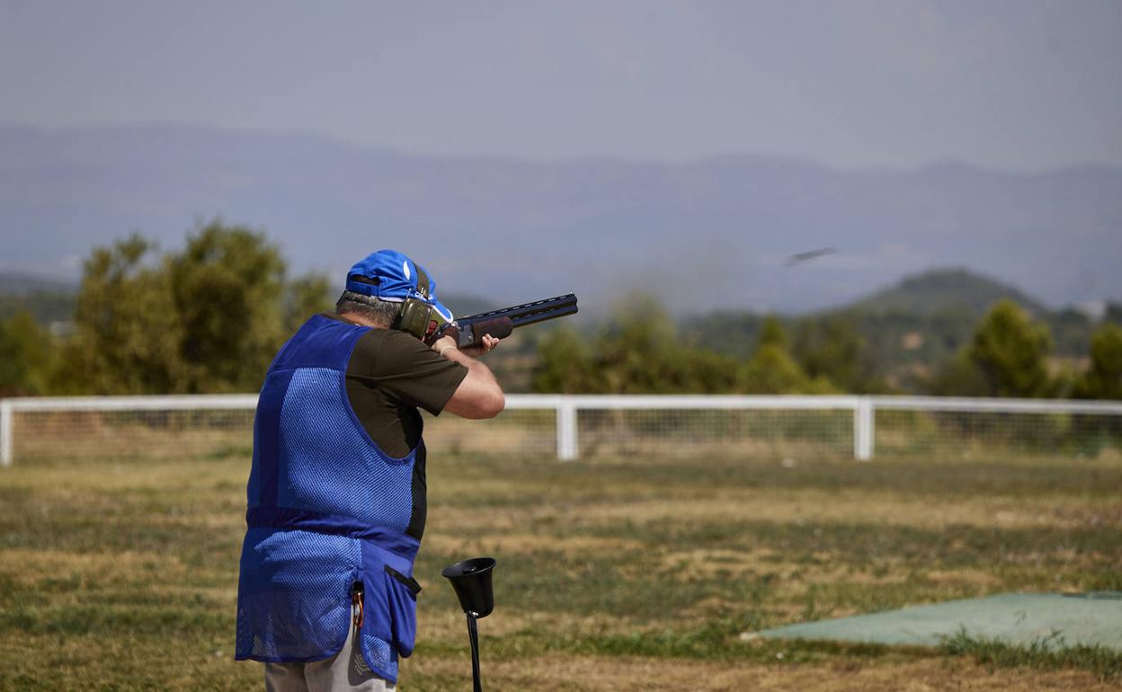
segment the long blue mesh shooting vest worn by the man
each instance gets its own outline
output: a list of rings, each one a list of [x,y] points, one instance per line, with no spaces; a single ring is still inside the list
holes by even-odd
[[[269,366],[254,422],[239,659],[334,655],[351,627],[357,582],[367,665],[396,681],[397,656],[413,652],[420,542],[405,530],[417,449],[402,459],[384,453],[347,399],[347,362],[367,331],[312,317]]]

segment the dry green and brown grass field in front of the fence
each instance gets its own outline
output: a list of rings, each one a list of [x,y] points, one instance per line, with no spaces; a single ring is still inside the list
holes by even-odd
[[[0,472],[0,690],[260,689],[236,663],[245,456]],[[439,576],[498,560],[491,690],[1106,690],[1122,657],[751,640],[1017,590],[1122,590],[1122,461],[435,456],[401,690],[470,689]]]

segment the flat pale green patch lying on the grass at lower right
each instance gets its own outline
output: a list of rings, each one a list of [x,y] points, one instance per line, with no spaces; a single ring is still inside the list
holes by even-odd
[[[937,646],[940,638],[960,630],[1010,644],[1028,645],[1050,637],[1051,646],[1098,644],[1122,651],[1122,591],[1003,593],[788,625],[757,634],[776,639]]]

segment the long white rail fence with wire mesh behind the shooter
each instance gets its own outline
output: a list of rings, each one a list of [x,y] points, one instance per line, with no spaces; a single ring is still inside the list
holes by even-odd
[[[256,395],[0,400],[0,461],[248,454]],[[1122,402],[883,396],[509,395],[493,421],[426,421],[430,449],[599,454],[1122,458]]]

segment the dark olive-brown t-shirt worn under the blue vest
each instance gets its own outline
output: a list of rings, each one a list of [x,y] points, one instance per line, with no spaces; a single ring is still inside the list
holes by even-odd
[[[339,315],[324,317],[347,322]],[[359,423],[386,454],[408,455],[413,464],[413,515],[405,532],[420,539],[425,520],[425,450],[419,408],[439,415],[468,369],[398,330],[371,329],[358,340],[347,363],[347,397]],[[420,446],[419,446],[420,445]]]

